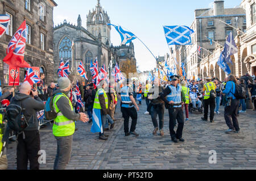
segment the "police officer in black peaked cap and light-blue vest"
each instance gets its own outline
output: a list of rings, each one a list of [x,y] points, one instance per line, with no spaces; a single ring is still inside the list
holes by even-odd
[[[184,141],[182,138],[182,131],[184,127],[184,115],[182,110],[182,100],[181,100],[181,86],[177,85],[179,80],[179,76],[172,75],[171,76],[171,85],[168,86],[163,93],[161,94],[160,98],[166,103],[166,107],[169,111],[169,129],[172,141],[178,142]],[[166,99],[167,96],[167,99]],[[176,124],[176,120],[178,123],[177,131],[175,133],[174,127]]]

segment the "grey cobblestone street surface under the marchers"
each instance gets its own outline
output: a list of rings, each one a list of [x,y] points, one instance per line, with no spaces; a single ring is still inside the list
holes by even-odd
[[[164,136],[153,136],[150,115],[142,102],[138,112],[137,133],[139,137],[124,136],[123,119],[118,104],[118,119],[107,141],[98,140],[98,134],[90,132],[91,124],[77,122],[79,130],[73,136],[71,161],[67,169],[255,169],[256,111],[240,114],[240,134],[225,134],[228,129],[223,116],[215,115],[214,123],[201,121],[200,113],[192,113],[185,122],[185,142],[175,144],[169,133],[168,111],[164,116]],[[53,169],[56,140],[51,125],[40,130],[41,149],[46,151],[46,164],[40,169]],[[16,144],[9,145],[9,169],[16,169]],[[217,163],[209,163],[209,151],[217,152]]]

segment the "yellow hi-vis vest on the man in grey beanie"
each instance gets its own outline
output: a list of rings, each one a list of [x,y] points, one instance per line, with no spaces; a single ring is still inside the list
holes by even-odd
[[[67,117],[65,117],[57,107],[57,101],[63,96],[68,99],[68,96],[65,94],[56,95],[55,98],[53,98],[53,108],[55,112],[59,112],[57,113],[56,119],[54,119],[54,124],[52,127],[53,135],[56,137],[71,136],[75,132],[75,121],[69,120]],[[69,106],[73,111],[72,103],[69,99],[68,101]]]

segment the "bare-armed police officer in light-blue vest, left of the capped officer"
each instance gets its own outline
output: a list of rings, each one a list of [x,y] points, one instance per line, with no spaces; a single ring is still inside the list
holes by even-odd
[[[126,84],[126,85],[125,85]],[[129,136],[133,134],[135,136],[139,136],[138,133],[135,132],[137,125],[137,111],[139,111],[139,107],[133,98],[133,89],[131,89],[131,81],[127,79],[127,82],[124,83],[125,86],[122,87],[121,92],[118,94],[119,100],[122,102],[122,113],[123,118],[125,119],[123,124],[125,127],[125,136]],[[135,110],[135,107],[137,111]],[[129,119],[131,117],[131,128],[129,132]]]

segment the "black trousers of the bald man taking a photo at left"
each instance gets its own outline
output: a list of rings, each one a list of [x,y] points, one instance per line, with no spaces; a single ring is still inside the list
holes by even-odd
[[[18,136],[17,145],[17,169],[27,170],[28,160],[30,161],[30,170],[39,170],[38,151],[40,150],[39,131],[24,131]]]

